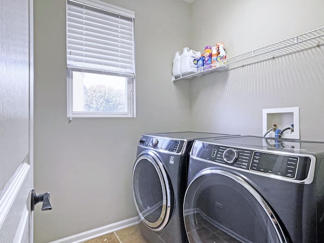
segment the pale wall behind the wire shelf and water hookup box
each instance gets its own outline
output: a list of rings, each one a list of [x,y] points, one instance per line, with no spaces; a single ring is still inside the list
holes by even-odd
[[[323,11],[322,0],[195,0],[191,48],[223,42],[232,57],[324,26]],[[262,109],[300,107],[301,139],[324,141],[323,56],[320,46],[192,79],[191,129],[262,136]]]

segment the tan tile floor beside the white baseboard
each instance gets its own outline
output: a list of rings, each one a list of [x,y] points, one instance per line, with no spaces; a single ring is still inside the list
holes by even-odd
[[[110,234],[87,240],[83,243],[147,243],[143,239],[138,225],[121,229]]]

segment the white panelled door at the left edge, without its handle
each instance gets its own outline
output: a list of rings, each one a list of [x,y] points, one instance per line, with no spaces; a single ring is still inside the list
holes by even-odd
[[[0,242],[33,242],[32,0],[0,5]]]

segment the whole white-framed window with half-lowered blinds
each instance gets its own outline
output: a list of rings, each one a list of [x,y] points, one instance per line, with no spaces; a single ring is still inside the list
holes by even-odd
[[[135,117],[134,17],[97,0],[67,0],[68,117]]]

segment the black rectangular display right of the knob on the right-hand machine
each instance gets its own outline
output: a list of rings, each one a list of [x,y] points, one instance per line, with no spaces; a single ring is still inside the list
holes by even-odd
[[[295,178],[298,157],[255,151],[250,170],[267,174]]]

